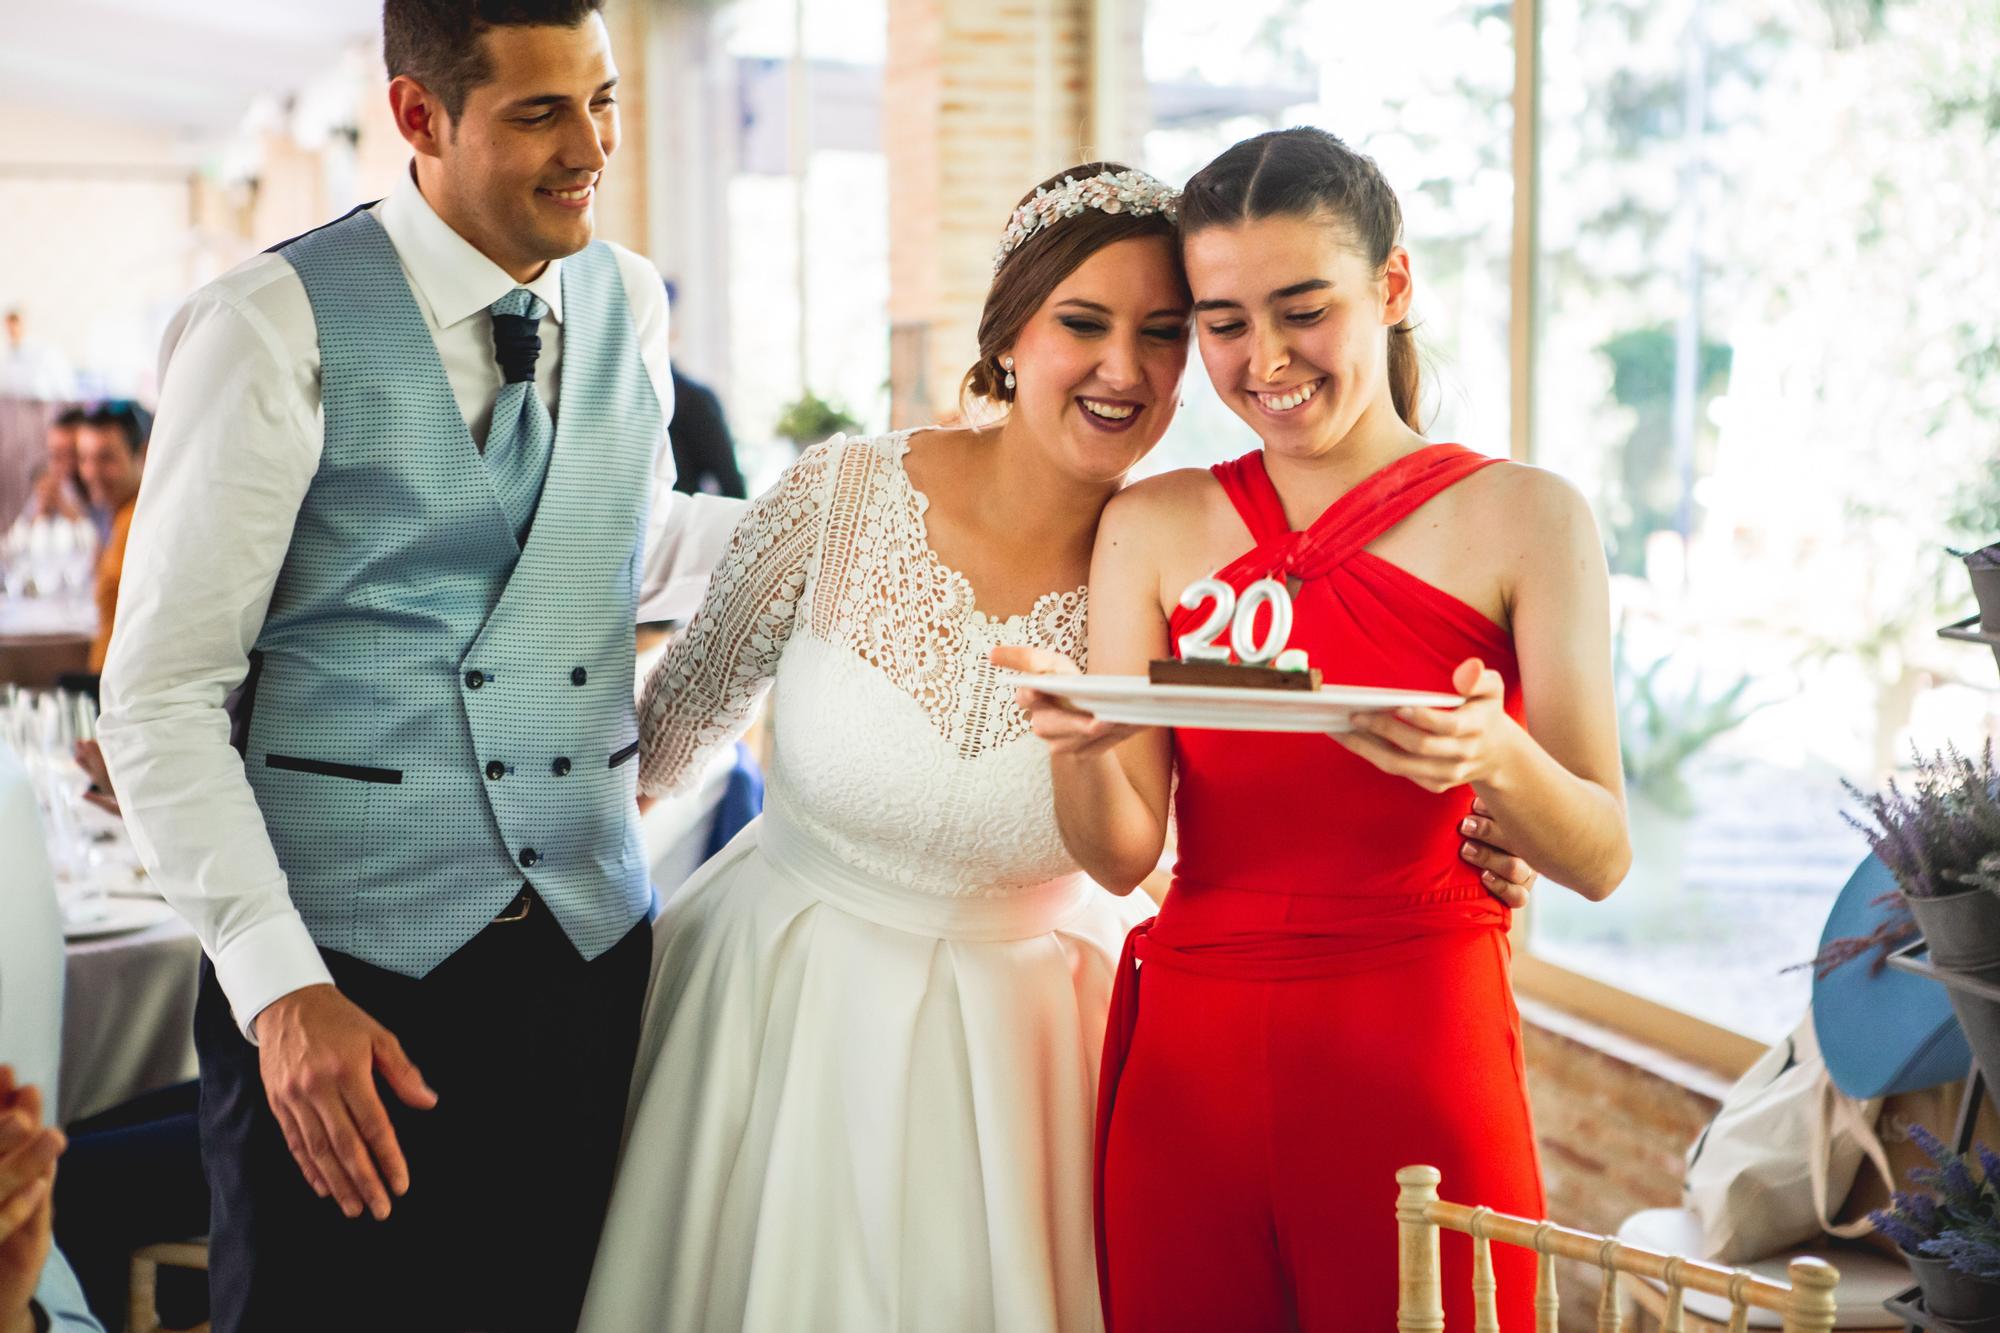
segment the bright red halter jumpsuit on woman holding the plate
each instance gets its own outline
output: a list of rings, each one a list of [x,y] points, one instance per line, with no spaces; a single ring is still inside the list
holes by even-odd
[[[1256,546],[1218,576],[1298,580],[1290,642],[1332,683],[1450,691],[1480,656],[1518,719],[1508,634],[1364,550],[1488,462],[1422,448],[1304,532],[1262,452],[1220,464]],[[1106,1321],[1388,1333],[1398,1167],[1542,1215],[1508,909],[1458,855],[1472,791],[1426,793],[1314,735],[1184,729],[1174,765],[1174,887],[1126,943],[1098,1093]],[[1496,1245],[1494,1267],[1502,1329],[1526,1333],[1534,1255]],[[1446,1327],[1472,1327],[1470,1279],[1470,1241],[1446,1233]]]

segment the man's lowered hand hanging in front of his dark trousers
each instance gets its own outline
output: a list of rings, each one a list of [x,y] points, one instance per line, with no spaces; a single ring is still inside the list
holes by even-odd
[[[348,1217],[366,1207],[388,1217],[390,1193],[410,1189],[376,1075],[406,1105],[428,1111],[438,1095],[396,1037],[330,985],[282,995],[256,1017],[264,1095],[312,1191]]]

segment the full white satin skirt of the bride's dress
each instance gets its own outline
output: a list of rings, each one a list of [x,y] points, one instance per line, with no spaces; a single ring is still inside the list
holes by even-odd
[[[1098,1053],[1150,911],[916,893],[768,811],[654,927],[582,1329],[1100,1329]]]

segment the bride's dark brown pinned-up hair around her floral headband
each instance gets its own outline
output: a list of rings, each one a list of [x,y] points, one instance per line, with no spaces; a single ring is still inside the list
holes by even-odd
[[[1100,176],[1138,178],[1158,186],[1150,176],[1134,172],[1124,162],[1080,162],[1056,172],[1020,196],[1014,212],[1016,224],[1008,228],[1010,248],[1000,256],[1000,262],[994,266],[994,282],[986,288],[986,306],[980,310],[980,358],[972,362],[972,368],[966,370],[966,378],[958,386],[960,402],[966,400],[966,394],[986,398],[988,402],[1014,402],[1014,390],[1006,384],[1008,372],[1000,364],[1000,358],[1014,346],[1020,330],[1028,326],[1028,320],[1042,308],[1050,292],[1062,286],[1062,280],[1076,272],[1084,260],[1108,244],[1132,240],[1134,236],[1176,240],[1172,212],[1162,212],[1156,206],[1106,212],[1100,206],[1088,204],[1078,212],[1064,212],[1040,222],[1026,238],[1016,240],[1018,218],[1024,208],[1036,202],[1036,196],[1054,194],[1068,182],[1088,182]],[[1172,254],[1178,270],[1178,244],[1172,246]]]

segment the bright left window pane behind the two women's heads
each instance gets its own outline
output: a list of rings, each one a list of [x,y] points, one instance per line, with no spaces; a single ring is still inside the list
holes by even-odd
[[[1236,140],[1292,124],[1374,156],[1404,210],[1426,430],[1494,454],[1508,452],[1512,52],[1510,6],[1480,0],[1146,6],[1146,170],[1180,184]],[[1190,358],[1186,406],[1144,470],[1252,448]]]

